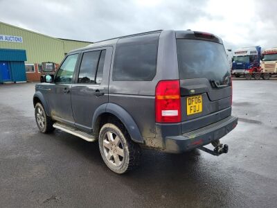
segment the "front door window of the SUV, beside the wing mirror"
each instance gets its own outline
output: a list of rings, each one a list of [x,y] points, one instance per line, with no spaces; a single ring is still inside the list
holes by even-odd
[[[55,83],[72,83],[73,73],[77,60],[78,54],[69,55],[66,60],[64,60],[59,71],[57,71]]]

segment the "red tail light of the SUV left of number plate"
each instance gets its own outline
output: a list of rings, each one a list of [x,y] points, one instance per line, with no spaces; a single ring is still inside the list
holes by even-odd
[[[179,80],[162,80],[156,87],[156,122],[181,122]]]

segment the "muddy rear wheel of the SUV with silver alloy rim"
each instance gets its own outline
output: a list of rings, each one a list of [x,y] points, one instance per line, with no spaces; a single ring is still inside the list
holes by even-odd
[[[139,166],[141,148],[129,137],[121,123],[106,123],[99,133],[99,149],[105,164],[123,174]]]

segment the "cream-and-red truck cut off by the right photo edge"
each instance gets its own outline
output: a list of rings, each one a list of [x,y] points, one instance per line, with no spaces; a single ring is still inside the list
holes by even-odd
[[[277,47],[262,52],[261,68],[263,79],[268,80],[271,76],[277,76]]]

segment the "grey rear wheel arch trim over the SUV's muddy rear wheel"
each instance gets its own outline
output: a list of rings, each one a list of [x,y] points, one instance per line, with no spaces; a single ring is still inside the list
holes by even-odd
[[[114,119],[118,119],[121,123],[123,123],[134,142],[143,144],[143,137],[141,136],[139,127],[136,125],[132,116],[124,110],[123,107],[120,107],[114,103],[102,104],[94,112],[92,129],[93,132],[95,132],[96,137],[99,135],[102,124],[107,122],[107,118],[112,118],[113,116]]]

